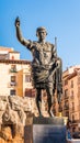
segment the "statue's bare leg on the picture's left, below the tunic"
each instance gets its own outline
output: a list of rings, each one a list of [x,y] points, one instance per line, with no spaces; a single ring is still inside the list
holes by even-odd
[[[42,91],[41,89],[36,89],[36,106],[41,116],[42,113],[41,113],[39,102],[42,102]]]

